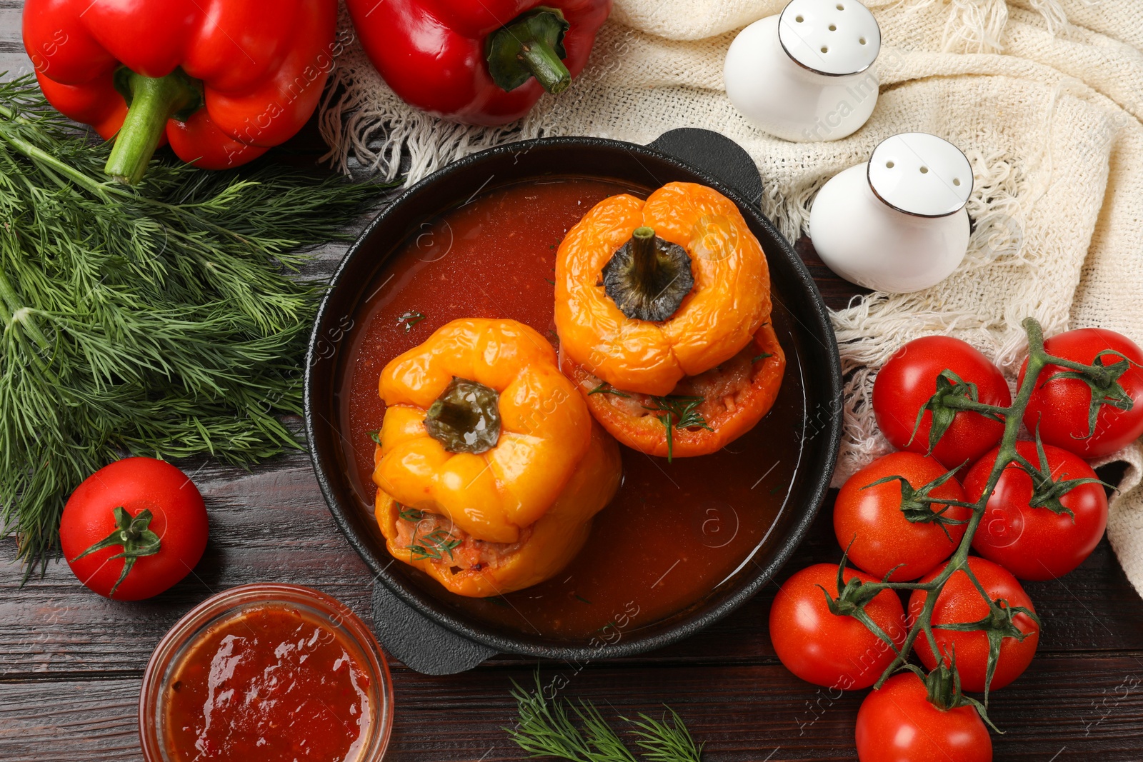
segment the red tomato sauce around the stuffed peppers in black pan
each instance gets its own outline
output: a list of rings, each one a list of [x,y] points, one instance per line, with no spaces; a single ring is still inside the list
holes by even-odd
[[[552,321],[555,249],[597,202],[632,189],[588,178],[518,183],[485,192],[425,222],[401,243],[345,327],[338,409],[345,460],[369,511],[374,443],[385,406],[382,368],[457,318],[507,318],[558,345]],[[623,450],[623,486],[596,516],[584,550],[554,578],[493,599],[425,589],[471,617],[521,634],[615,642],[622,632],[697,603],[761,546],[797,470],[805,416],[786,315],[772,318],[788,367],[774,408],[745,436],[697,458]]]

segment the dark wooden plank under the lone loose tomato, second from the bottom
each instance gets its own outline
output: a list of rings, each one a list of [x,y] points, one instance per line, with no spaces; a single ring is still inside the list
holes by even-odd
[[[0,567],[0,675],[142,669],[162,634],[191,607],[213,592],[250,581],[317,587],[369,620],[368,569],[337,531],[304,454],[250,473],[209,463],[185,467],[195,474],[211,522],[210,542],[194,573],[152,601],[123,603],[90,594],[65,564],[50,566],[43,579],[24,587],[15,566]],[[10,542],[0,544],[6,558],[11,558]],[[838,560],[826,506],[778,581],[810,563]],[[706,632],[630,661],[772,659],[766,617],[776,589],[769,585]],[[1028,589],[1045,620],[1042,653],[1143,650],[1143,601],[1106,542],[1068,577],[1030,583]]]

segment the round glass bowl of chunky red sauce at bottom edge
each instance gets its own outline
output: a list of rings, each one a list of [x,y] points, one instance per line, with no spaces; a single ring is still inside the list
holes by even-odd
[[[159,643],[139,732],[154,762],[374,762],[391,696],[376,640],[343,604],[247,585],[207,600]]]

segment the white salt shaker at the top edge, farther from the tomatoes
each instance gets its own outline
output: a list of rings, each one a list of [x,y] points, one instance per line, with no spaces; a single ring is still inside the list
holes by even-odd
[[[870,69],[881,30],[857,0],[792,0],[738,33],[722,79],[730,102],[770,135],[837,141],[861,128],[877,104]]]

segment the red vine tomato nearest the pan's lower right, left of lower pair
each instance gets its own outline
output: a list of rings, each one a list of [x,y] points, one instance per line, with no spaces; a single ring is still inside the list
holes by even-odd
[[[846,569],[844,579],[878,581],[863,571]],[[794,573],[770,605],[770,640],[786,669],[807,682],[849,690],[877,682],[895,653],[889,644],[846,615],[831,613],[825,602],[838,595],[838,568],[817,563]],[[870,618],[900,649],[905,641],[905,612],[889,589],[865,604]]]

